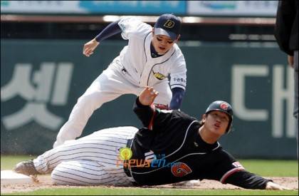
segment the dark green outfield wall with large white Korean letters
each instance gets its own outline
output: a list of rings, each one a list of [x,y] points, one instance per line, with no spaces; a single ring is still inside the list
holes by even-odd
[[[51,149],[77,98],[126,41],[104,41],[83,56],[86,41],[1,40],[1,154]],[[236,158],[297,158],[293,73],[276,43],[179,43],[187,61],[182,110],[196,118],[214,100],[234,108],[234,129],[221,138]],[[105,103],[83,135],[141,126],[133,95]]]

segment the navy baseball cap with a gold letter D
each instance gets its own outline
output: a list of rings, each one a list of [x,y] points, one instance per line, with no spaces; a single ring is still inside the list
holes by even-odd
[[[169,36],[172,40],[177,39],[181,31],[181,20],[173,14],[159,16],[154,24],[154,34]]]

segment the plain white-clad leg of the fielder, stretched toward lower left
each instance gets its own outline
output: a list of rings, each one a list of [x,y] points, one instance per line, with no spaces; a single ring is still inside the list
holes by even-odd
[[[59,130],[53,147],[61,145],[65,140],[79,137],[94,110],[100,108],[103,103],[125,94],[128,91],[126,86],[127,83],[114,69],[109,67],[103,71],[83,96],[78,98],[68,121]]]

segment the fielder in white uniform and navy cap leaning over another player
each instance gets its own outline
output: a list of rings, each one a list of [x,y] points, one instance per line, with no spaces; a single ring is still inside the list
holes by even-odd
[[[187,83],[186,62],[177,46],[180,29],[181,20],[172,14],[159,16],[154,28],[135,17],[124,17],[85,43],[83,54],[90,56],[100,42],[116,33],[121,32],[128,40],[120,55],[78,98],[53,147],[79,137],[90,115],[103,103],[124,94],[137,96],[145,86],[154,86],[160,92],[155,103],[179,109]]]

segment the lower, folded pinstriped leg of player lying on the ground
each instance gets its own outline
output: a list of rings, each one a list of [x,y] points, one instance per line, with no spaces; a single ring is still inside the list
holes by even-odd
[[[122,167],[111,174],[93,160],[63,161],[51,173],[56,185],[132,185]]]

